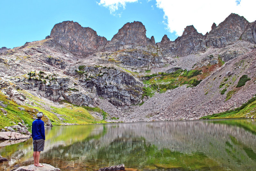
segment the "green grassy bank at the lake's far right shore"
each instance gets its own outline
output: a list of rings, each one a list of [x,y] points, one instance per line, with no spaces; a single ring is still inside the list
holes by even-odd
[[[252,115],[256,115],[256,97],[252,97],[246,103],[234,110],[214,113],[212,115],[203,116],[200,119],[245,118]]]

